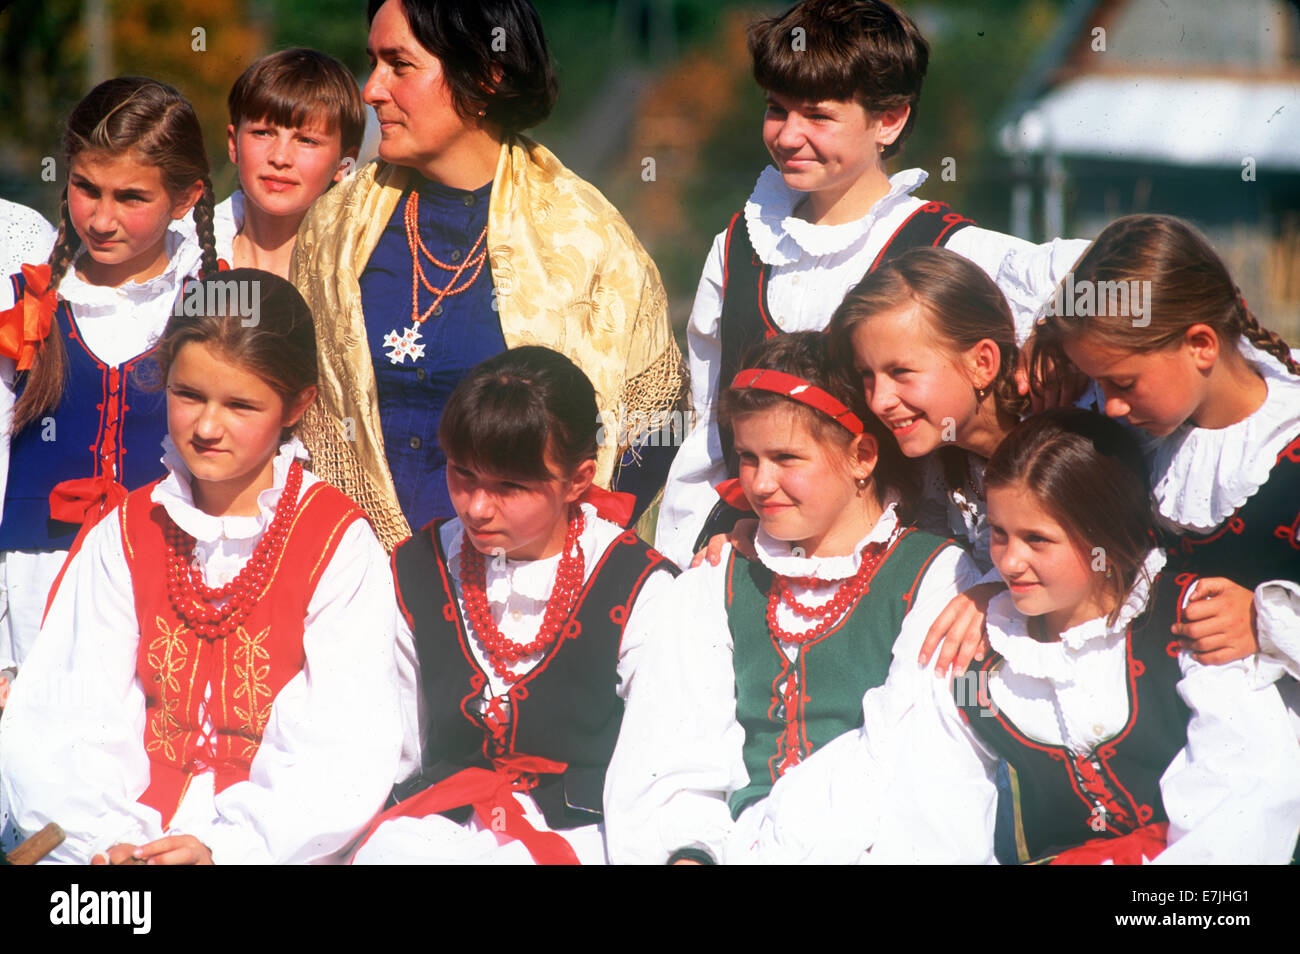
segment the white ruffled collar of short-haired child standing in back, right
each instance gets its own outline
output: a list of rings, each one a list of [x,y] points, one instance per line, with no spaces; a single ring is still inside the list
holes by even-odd
[[[776,166],[770,165],[758,177],[758,183],[745,203],[745,226],[750,244],[768,265],[789,265],[810,255],[842,252],[866,235],[900,201],[920,188],[927,178],[920,169],[894,173],[889,177],[889,192],[878,199],[862,218],[842,225],[812,225],[794,214],[794,207],[807,194],[786,186]]]

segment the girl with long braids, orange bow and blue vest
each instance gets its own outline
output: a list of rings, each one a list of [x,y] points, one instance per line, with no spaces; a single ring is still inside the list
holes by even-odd
[[[0,281],[0,669],[21,667],[77,530],[162,473],[164,402],[135,370],[186,276],[217,270],[203,134],[170,86],[96,86],[64,162],[48,263]],[[191,208],[199,244],[169,227]]]

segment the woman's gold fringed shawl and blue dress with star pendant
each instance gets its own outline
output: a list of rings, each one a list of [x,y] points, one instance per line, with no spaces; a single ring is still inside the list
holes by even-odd
[[[321,196],[299,230],[292,279],[313,313],[335,316],[317,322],[321,396],[304,442],[315,472],[365,508],[390,550],[420,525],[412,502],[441,486],[442,404],[503,347],[543,344],[592,380],[606,412],[598,485],[644,504],[663,480],[649,456],[667,467],[660,448],[638,458],[645,429],[625,426],[655,426],[684,391],[654,263],[595,188],[526,138],[503,143],[484,192],[377,160]]]

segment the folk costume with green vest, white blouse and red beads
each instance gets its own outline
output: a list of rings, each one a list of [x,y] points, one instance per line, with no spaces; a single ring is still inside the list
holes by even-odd
[[[682,573],[656,620],[606,782],[615,863],[766,860],[754,838],[772,785],[861,724],[892,646],[919,646],[979,576],[893,503],[848,556],[801,556],[762,529],[755,547]],[[796,610],[837,598],[829,616]]]

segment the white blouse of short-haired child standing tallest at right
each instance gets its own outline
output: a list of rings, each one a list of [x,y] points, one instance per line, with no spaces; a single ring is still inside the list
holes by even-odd
[[[805,194],[789,188],[774,166],[763,170],[744,217],[754,251],[772,266],[767,302],[783,331],[819,331],[829,324],[832,312],[862,281],[885,242],[924,204],[911,194],[926,178],[920,169],[900,172],[889,178],[889,192],[862,218],[842,225],[812,225],[794,214]],[[1087,246],[1062,239],[1034,246],[978,226],[962,229],[948,243],[948,248],[984,269],[1009,295],[1020,341],[1028,337],[1057,281]],[[715,426],[725,250],[724,230],[714,239],[705,261],[686,326],[696,422],[668,473],[655,534],[660,552],[681,565],[690,563],[692,545],[718,502],[714,486],[727,478]]]

